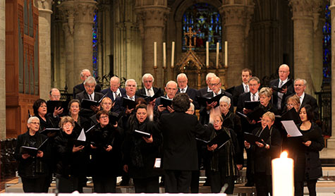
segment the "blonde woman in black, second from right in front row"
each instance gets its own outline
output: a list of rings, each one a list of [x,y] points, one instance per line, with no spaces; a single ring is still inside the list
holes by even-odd
[[[279,157],[281,151],[281,135],[273,125],[274,114],[267,111],[262,116],[262,127],[252,131],[262,142],[244,143],[245,148],[252,151],[252,172],[255,176],[257,196],[268,196],[269,193],[272,195],[271,161]]]

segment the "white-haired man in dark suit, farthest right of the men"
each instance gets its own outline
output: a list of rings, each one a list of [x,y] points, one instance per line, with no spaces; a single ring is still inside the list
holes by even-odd
[[[297,78],[296,80],[294,80],[294,92],[296,92],[296,95],[300,99],[300,108],[302,108],[306,104],[312,106],[312,109],[314,109],[314,118],[315,120],[317,120],[319,119],[319,107],[317,106],[317,99],[312,97],[312,95],[305,93],[306,84],[306,80]],[[293,94],[291,94],[291,96],[293,96]],[[288,99],[288,97],[286,99]]]

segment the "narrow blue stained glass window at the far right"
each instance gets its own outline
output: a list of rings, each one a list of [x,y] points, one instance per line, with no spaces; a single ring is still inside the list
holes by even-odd
[[[331,11],[329,4],[324,9],[323,32],[323,83],[331,82]]]

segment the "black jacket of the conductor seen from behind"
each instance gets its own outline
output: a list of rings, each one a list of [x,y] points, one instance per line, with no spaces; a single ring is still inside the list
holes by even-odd
[[[195,137],[203,135],[205,128],[197,121],[197,116],[176,111],[162,114],[158,130],[163,134],[164,169],[180,171],[199,169]]]

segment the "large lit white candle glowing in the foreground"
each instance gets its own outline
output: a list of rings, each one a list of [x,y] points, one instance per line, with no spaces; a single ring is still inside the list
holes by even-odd
[[[272,160],[272,192],[274,196],[293,196],[293,159],[287,158],[287,152]]]

